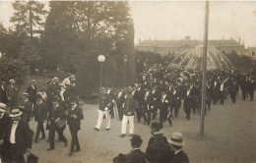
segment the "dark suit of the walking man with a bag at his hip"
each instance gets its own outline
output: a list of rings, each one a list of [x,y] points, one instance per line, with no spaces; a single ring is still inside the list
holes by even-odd
[[[51,108],[47,122],[50,122],[49,125],[49,141],[50,141],[50,148],[54,148],[54,138],[55,138],[55,132],[57,132],[59,139],[63,142],[67,142],[67,138],[63,135],[63,131],[65,127],[62,129],[59,129],[56,125],[56,120],[64,120],[66,118],[66,114],[64,112],[64,109],[61,106],[58,106],[57,108]]]

